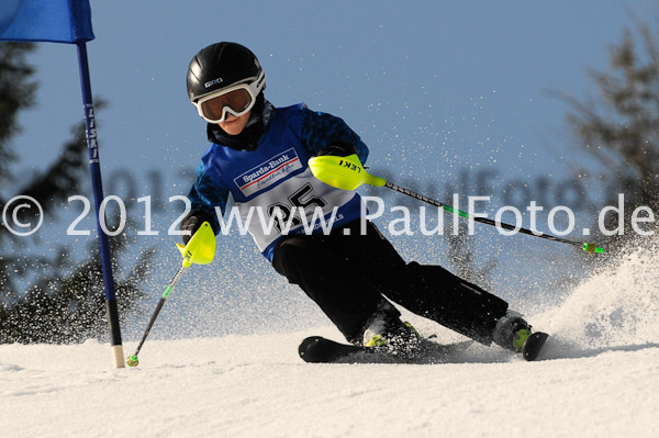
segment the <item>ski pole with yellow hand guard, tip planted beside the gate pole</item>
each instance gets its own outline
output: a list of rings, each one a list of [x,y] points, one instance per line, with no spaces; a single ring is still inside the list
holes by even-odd
[[[197,233],[194,233],[192,238],[190,238],[188,245],[183,246],[181,244],[176,244],[176,246],[181,251],[181,256],[183,257],[181,267],[178,269],[169,284],[167,284],[167,288],[165,288],[165,292],[163,292],[163,296],[160,296],[160,300],[156,305],[156,310],[148,319],[146,330],[144,330],[144,335],[142,335],[142,339],[139,340],[139,344],[137,344],[135,352],[126,358],[126,364],[129,367],[137,367],[139,363],[137,355],[139,353],[148,333],[154,326],[160,310],[165,305],[165,301],[167,301],[167,297],[171,293],[171,290],[176,283],[178,283],[181,277],[183,277],[183,272],[186,272],[186,270],[192,266],[192,263],[206,265],[213,261],[213,257],[215,256],[215,234],[213,233],[211,225],[208,222],[204,222],[201,224],[201,227],[197,231]]]

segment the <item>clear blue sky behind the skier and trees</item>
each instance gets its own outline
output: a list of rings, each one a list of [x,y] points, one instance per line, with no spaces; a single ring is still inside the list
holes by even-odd
[[[657,12],[650,1],[627,5],[640,16]],[[536,195],[537,178],[557,186],[590,164],[567,133],[566,104],[550,91],[593,93],[588,68],[605,69],[608,47],[633,24],[621,1],[91,0],[91,8],[92,90],[110,103],[98,115],[107,194],[124,195],[132,179],[137,196],[164,198],[187,193],[191,179],[180,173],[208,147],[185,90],[188,63],[208,44],[250,47],[275,105],[303,101],[342,116],[370,146],[372,169],[394,182],[440,192],[489,172],[485,188],[502,202],[509,181],[527,182]],[[44,168],[82,117],[75,47],[44,43],[31,61],[41,87],[37,105],[20,120],[19,171]],[[156,228],[165,231],[178,209],[170,205]],[[402,244],[403,252],[433,260],[423,245]],[[493,245],[498,256],[509,244]],[[534,254],[528,240],[522,248],[520,257]],[[256,248],[241,251],[256,257]],[[510,276],[499,280],[496,292],[510,292]]]

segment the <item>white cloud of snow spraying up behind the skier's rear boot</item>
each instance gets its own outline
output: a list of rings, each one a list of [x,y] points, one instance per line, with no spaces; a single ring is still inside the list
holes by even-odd
[[[552,357],[659,345],[657,258],[651,246],[639,246],[576,288],[558,307],[534,316],[562,350],[551,351]]]

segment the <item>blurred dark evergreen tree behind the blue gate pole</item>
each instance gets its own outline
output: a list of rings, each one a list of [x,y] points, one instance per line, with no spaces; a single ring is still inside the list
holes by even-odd
[[[34,69],[25,57],[33,44],[0,43],[0,211],[16,194],[34,198],[44,215],[54,220],[56,211],[72,194],[82,192],[88,178],[85,124],[72,128],[72,137],[45,171],[27,179],[11,172],[16,155],[12,138],[20,132],[16,122],[21,110],[34,104]],[[103,102],[97,99],[97,109]],[[18,190],[15,188],[19,188]],[[18,211],[22,222],[30,210]],[[12,212],[8,212],[9,215]],[[143,294],[139,284],[154,256],[152,248],[137,257],[131,269],[116,262],[133,239],[127,235],[110,238],[120,314],[125,314]],[[0,227],[0,344],[72,342],[107,335],[104,285],[98,244],[74,260],[72,247],[45,248],[38,236],[19,237],[4,225]],[[36,248],[36,249],[35,249]],[[43,254],[55,254],[46,256]],[[78,251],[79,252],[79,251]]]

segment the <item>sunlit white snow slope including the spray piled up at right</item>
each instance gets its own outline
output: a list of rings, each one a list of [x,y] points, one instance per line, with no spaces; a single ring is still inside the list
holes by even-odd
[[[340,339],[331,327],[152,339],[120,370],[97,341],[0,346],[0,436],[659,437],[652,259],[630,255],[527,315],[552,335],[537,362],[480,345],[440,364],[302,362],[300,340]]]

